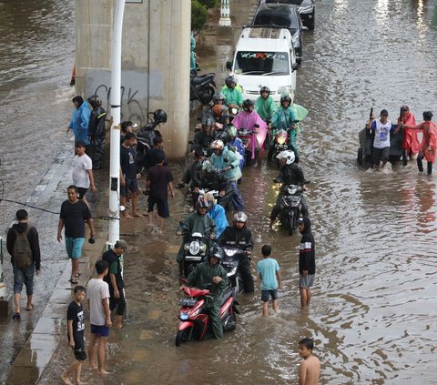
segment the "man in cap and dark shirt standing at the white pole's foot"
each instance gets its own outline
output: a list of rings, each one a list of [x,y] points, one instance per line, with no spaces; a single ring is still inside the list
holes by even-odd
[[[117,329],[123,328],[123,314],[126,309],[125,281],[123,280],[123,254],[127,251],[127,242],[117,240],[114,248],[107,250],[102,256],[109,266],[109,274],[104,278],[109,286],[109,309],[117,308]]]

